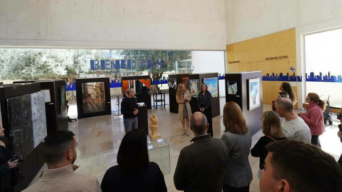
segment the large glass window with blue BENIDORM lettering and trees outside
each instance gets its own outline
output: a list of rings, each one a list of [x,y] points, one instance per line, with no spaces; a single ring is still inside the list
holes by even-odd
[[[212,55],[215,57],[212,60],[221,60],[224,69],[224,53],[220,52],[222,57]],[[198,65],[198,58],[197,65],[193,64],[193,55],[194,51],[166,50],[0,49],[0,81],[9,84],[21,80],[64,79],[69,101],[68,115],[76,116],[75,79],[109,77],[111,109],[116,111],[115,101],[118,96],[121,98],[119,83],[122,76],[150,75],[152,80],[159,81],[167,79],[168,74],[202,72]],[[101,68],[101,60],[105,60],[104,64],[107,68],[116,62],[120,67],[92,70],[91,66]],[[161,61],[163,61],[163,68],[160,67]],[[147,67],[148,65],[159,65],[159,67]],[[223,74],[224,70],[221,68],[215,72]],[[151,85],[152,92],[158,88],[168,92],[167,81],[157,83],[159,84]],[[221,92],[224,92],[224,89]],[[168,103],[168,96],[166,97]]]

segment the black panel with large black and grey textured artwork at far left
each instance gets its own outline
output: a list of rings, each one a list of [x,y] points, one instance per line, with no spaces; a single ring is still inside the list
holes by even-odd
[[[39,170],[43,160],[37,149],[47,136],[44,94],[40,83],[22,83],[0,86],[0,108],[4,135],[9,138],[15,155],[23,155],[25,160],[18,168],[25,175],[14,191],[24,190]],[[38,164],[39,163],[39,164]]]

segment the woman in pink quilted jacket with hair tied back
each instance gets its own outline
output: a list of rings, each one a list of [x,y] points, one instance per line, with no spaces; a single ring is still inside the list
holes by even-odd
[[[316,93],[309,93],[306,96],[306,100],[309,104],[306,109],[306,114],[299,112],[300,116],[307,126],[309,126],[311,131],[311,143],[320,147],[318,137],[325,132],[323,111],[326,107],[326,102],[319,99]]]

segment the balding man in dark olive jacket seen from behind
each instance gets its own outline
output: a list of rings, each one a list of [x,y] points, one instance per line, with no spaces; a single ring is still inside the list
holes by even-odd
[[[195,112],[191,116],[190,129],[195,134],[191,141],[194,143],[184,147],[179,154],[173,175],[177,190],[222,191],[228,149],[221,139],[207,134],[208,127],[203,113]]]

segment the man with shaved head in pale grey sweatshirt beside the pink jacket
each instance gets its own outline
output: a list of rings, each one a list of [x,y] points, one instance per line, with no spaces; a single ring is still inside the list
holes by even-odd
[[[281,122],[281,127],[287,138],[311,143],[310,128],[302,118],[294,114],[293,104],[289,99],[285,97],[278,98],[274,107],[279,116],[284,118]]]

